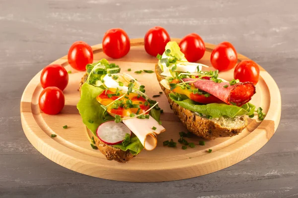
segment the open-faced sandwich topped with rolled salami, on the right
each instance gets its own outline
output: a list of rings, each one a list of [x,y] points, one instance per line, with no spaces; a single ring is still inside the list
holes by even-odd
[[[248,103],[256,93],[253,83],[227,82],[218,71],[202,71],[206,65],[188,62],[176,42],[167,43],[157,58],[160,87],[190,132],[213,140],[237,135],[246,127],[246,116],[253,116],[255,110]]]

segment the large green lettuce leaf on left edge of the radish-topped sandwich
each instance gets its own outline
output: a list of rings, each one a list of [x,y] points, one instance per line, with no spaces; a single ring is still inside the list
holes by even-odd
[[[104,113],[104,109],[96,100],[96,97],[101,94],[103,89],[94,87],[84,83],[81,87],[81,98],[79,99],[76,108],[82,117],[83,123],[96,136],[98,126],[108,120],[115,120],[109,114]]]

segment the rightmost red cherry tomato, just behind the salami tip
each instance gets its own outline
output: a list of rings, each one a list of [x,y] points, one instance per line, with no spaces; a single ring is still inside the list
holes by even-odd
[[[260,69],[257,63],[252,60],[242,60],[234,70],[234,79],[240,82],[252,82],[256,85],[259,81]]]

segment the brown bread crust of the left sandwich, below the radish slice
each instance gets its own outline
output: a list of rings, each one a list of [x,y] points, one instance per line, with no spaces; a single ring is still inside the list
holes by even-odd
[[[82,77],[82,80],[79,83],[79,91],[81,86],[87,80],[87,73]],[[133,155],[129,150],[123,151],[120,148],[115,148],[113,146],[107,145],[101,142],[96,136],[93,136],[95,140],[96,147],[100,150],[102,154],[107,158],[107,160],[116,160],[118,162],[128,162],[135,155]]]

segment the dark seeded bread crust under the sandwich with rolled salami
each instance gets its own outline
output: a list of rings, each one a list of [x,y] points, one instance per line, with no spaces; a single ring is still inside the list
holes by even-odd
[[[158,82],[165,78],[165,76],[160,75],[162,71],[158,64],[155,65],[155,73]],[[165,89],[160,83],[159,85],[165,93],[171,109],[179,117],[181,122],[187,128],[187,130],[193,134],[196,134],[199,137],[202,137],[207,140],[214,140],[219,137],[231,137],[239,134],[247,125],[247,119],[245,116],[240,117],[241,120],[244,120],[245,124],[238,128],[227,128],[221,126],[220,124],[216,123],[211,119],[207,119],[199,115],[196,115],[194,112],[179,106],[177,103],[171,100],[169,98],[169,94],[172,91]]]

